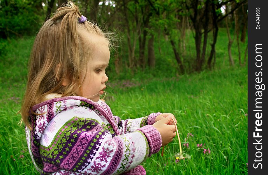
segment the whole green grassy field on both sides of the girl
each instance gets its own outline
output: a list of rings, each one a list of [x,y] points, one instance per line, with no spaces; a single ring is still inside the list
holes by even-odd
[[[38,174],[16,115],[32,42],[32,38],[12,40],[5,56],[0,56],[0,174]],[[176,161],[176,136],[163,157],[160,151],[142,164],[147,174],[247,174],[247,66],[229,67],[225,48],[227,43],[217,43],[219,65],[214,71],[110,78],[106,101],[114,115],[126,119],[159,111],[177,118],[183,150],[191,159]]]

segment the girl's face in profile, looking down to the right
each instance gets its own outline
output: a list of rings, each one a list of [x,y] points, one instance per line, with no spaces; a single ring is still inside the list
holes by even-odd
[[[105,69],[109,64],[110,50],[103,38],[96,36],[95,39],[92,60],[87,63],[87,70],[80,93],[82,97],[97,102],[100,99],[100,95],[103,94],[103,89],[106,88],[105,83],[108,81]]]

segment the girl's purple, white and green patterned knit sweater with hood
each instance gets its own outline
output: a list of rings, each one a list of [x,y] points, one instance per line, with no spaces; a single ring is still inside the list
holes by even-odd
[[[29,152],[41,174],[146,174],[139,165],[157,153],[160,133],[151,126],[161,113],[121,120],[102,100],[69,96],[32,109],[26,129]]]

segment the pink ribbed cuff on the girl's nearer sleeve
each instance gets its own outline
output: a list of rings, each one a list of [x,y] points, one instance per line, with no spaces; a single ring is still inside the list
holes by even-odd
[[[154,153],[157,153],[162,146],[162,139],[158,130],[152,125],[146,125],[137,130],[143,132],[149,142],[150,151],[148,157],[150,157]]]

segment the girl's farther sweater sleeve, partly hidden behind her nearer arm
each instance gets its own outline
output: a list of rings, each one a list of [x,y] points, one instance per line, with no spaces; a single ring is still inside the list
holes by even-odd
[[[158,115],[161,113],[151,113],[150,115],[146,117],[141,117],[141,118],[135,118],[135,119],[126,119],[122,120],[118,116],[117,117],[118,122],[118,127],[121,132],[121,134],[126,134],[126,133],[131,133],[134,132],[135,130],[144,127],[146,125],[153,125],[155,123],[155,119]]]

